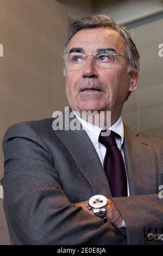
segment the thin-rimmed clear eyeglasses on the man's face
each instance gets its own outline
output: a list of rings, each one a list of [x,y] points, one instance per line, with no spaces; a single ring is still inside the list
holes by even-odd
[[[123,58],[127,57],[117,54],[113,51],[107,53],[94,53],[94,54],[83,54],[80,52],[72,52],[62,57],[66,67],[69,70],[77,70],[83,68],[86,63],[87,57],[93,57],[93,60],[99,68],[109,69],[115,63],[121,63]]]

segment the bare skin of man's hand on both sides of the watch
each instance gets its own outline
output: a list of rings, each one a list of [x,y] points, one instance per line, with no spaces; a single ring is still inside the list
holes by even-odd
[[[95,216],[92,210],[87,209],[86,201],[76,203],[75,205],[78,207],[82,207],[83,210],[85,210],[88,214]],[[108,199],[106,218],[107,221],[110,221],[111,224],[115,227],[120,227],[122,225],[123,218],[118,209],[116,208],[116,205],[111,201],[111,199]]]

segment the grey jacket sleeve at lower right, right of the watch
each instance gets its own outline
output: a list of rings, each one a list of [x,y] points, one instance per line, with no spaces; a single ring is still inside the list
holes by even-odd
[[[111,199],[124,218],[128,245],[163,245],[163,198],[160,194]]]

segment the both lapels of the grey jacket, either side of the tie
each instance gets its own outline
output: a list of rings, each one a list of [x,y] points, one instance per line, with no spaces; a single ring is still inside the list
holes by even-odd
[[[68,111],[70,114],[72,109]],[[105,171],[89,136],[81,130],[82,125],[77,118],[74,119],[74,115],[69,118],[67,130],[65,129],[65,113],[60,118],[63,119],[63,127],[54,131],[55,135],[65,145],[80,172],[89,182],[93,194],[101,193],[110,197],[111,192]],[[76,122],[80,130],[70,130],[71,121]],[[149,140],[143,133],[131,130],[124,125],[123,147],[130,196],[156,193],[156,159]]]

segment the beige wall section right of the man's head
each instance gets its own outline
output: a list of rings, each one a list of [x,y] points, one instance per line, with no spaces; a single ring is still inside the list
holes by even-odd
[[[131,29],[140,53],[139,86],[123,108],[123,120],[140,131],[163,137],[163,19]]]

